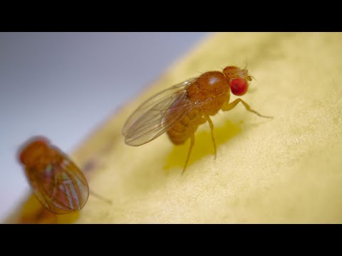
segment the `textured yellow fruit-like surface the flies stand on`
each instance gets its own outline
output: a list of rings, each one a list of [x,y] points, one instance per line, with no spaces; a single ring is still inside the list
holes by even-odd
[[[341,57],[342,33],[209,36],[73,154],[90,188],[113,201],[90,196],[76,223],[342,223]],[[125,145],[121,128],[143,100],[246,64],[257,81],[242,99],[274,119],[242,105],[219,112],[216,160],[208,124],[195,134],[184,175],[189,142],[174,146],[164,134]]]

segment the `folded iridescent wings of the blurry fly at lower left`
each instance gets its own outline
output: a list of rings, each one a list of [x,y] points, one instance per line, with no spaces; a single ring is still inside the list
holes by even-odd
[[[48,164],[44,170],[31,168],[26,169],[26,173],[36,198],[52,213],[66,214],[80,210],[88,200],[86,177],[67,157],[60,163]]]

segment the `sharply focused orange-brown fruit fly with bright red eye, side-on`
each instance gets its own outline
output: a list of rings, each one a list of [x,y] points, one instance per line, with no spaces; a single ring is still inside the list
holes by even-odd
[[[229,66],[220,71],[209,71],[174,85],[156,95],[138,107],[123,126],[125,143],[140,146],[167,133],[173,144],[184,144],[190,138],[190,147],[183,171],[187,168],[192,147],[195,144],[195,131],[200,124],[209,123],[216,158],[214,124],[210,116],[219,110],[232,110],[239,102],[246,110],[266,117],[238,98],[229,102],[230,91],[234,95],[244,95],[252,76],[246,68]],[[271,118],[271,117],[266,117]]]

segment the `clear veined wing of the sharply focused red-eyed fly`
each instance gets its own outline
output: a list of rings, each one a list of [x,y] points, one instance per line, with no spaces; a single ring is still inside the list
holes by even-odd
[[[195,80],[191,78],[174,85],[142,103],[123,126],[125,143],[140,146],[150,142],[185,117],[192,107],[187,99],[186,87]]]

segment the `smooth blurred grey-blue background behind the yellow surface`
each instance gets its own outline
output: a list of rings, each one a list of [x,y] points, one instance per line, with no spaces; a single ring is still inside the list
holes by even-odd
[[[30,193],[23,142],[44,135],[71,153],[205,36],[0,33],[0,222]]]

